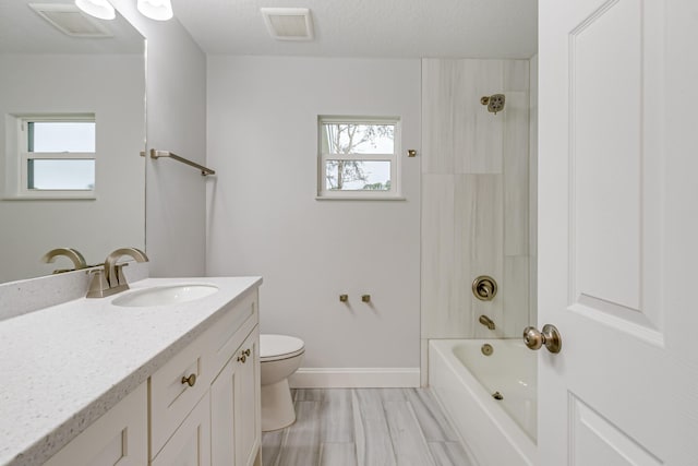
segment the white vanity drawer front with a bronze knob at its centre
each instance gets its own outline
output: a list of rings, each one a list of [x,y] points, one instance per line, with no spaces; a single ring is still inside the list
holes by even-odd
[[[155,456],[208,391],[206,333],[151,377],[151,455]]]

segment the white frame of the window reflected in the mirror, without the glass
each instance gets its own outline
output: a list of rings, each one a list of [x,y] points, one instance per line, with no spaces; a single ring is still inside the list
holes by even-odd
[[[73,200],[97,198],[97,118],[95,113],[16,115],[15,121],[15,174],[8,179],[5,199],[12,200]],[[95,123],[95,152],[29,152],[29,130],[33,122],[92,122]],[[11,152],[8,151],[8,154]],[[94,160],[95,184],[92,189],[29,189],[29,160]]]

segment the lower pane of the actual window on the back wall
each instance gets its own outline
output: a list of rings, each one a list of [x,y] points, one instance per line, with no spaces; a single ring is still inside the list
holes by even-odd
[[[332,191],[389,191],[390,160],[327,160],[325,182]]]

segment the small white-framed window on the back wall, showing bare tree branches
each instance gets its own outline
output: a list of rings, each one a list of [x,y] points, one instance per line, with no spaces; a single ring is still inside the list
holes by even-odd
[[[399,199],[397,118],[318,118],[318,198]]]

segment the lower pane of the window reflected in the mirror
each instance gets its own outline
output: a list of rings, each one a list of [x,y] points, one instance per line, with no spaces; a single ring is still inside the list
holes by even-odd
[[[93,190],[95,160],[89,158],[34,158],[28,162],[28,189]]]

